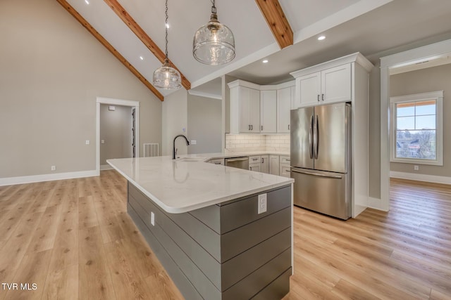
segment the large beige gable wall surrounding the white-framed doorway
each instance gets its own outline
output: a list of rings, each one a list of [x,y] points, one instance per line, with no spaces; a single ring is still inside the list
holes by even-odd
[[[57,1],[1,0],[0,32],[0,178],[95,170],[98,96],[161,143],[161,101]]]

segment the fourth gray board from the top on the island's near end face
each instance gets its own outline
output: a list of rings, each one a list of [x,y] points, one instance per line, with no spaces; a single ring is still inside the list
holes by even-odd
[[[274,278],[285,273],[286,270],[291,270],[291,248],[286,249],[280,255],[271,259],[261,268],[258,268],[254,273],[250,274],[236,285],[226,289],[223,292],[223,300],[234,300],[234,299],[251,299],[252,296],[264,290],[264,287],[271,284]],[[288,292],[290,290],[290,285],[288,285]],[[288,292],[285,292],[287,294]],[[285,295],[284,294],[284,295]],[[268,299],[281,299],[279,298],[268,298]]]

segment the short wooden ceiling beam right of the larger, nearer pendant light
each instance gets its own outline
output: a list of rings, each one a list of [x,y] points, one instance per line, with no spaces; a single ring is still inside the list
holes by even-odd
[[[281,49],[293,44],[293,32],[278,0],[255,0]]]

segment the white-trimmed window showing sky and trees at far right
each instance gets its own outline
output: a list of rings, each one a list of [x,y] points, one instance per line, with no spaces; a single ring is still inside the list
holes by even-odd
[[[390,98],[390,162],[443,166],[443,91]]]

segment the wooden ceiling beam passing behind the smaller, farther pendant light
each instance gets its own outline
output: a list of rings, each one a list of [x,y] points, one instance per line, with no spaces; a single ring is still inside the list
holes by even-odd
[[[125,11],[125,9],[121,6],[121,4],[119,4],[117,0],[104,0],[104,1],[111,7],[111,9],[113,9],[116,15],[118,15],[118,17],[121,18],[121,20],[123,20],[123,22],[130,28],[130,30],[132,30],[132,32],[136,34],[138,39],[140,39],[142,43],[146,45],[147,48],[149,48],[150,52],[154,53],[154,56],[156,56],[156,58],[158,58],[161,63],[164,63],[164,60],[166,58],[165,53],[161,51],[159,46],[157,46],[155,42],[152,41],[152,39],[149,37],[149,35],[147,35],[147,33],[144,32],[144,30],[142,30],[140,25],[138,25],[137,22],[133,20],[133,18],[127,13],[127,11]],[[171,62],[171,60],[169,60],[169,63],[171,64],[171,67],[178,70],[178,68],[175,67],[175,65]],[[180,72],[180,70],[178,70],[178,72]],[[182,85],[185,87],[185,89],[190,90],[191,89],[190,81],[188,81],[188,79],[185,77],[185,75],[183,75],[182,72],[180,72],[180,76],[182,77]]]

